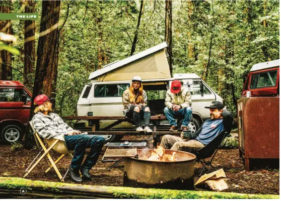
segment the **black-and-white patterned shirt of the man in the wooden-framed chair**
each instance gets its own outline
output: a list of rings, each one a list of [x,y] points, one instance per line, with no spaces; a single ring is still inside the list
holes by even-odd
[[[74,131],[55,113],[43,115],[38,112],[32,118],[32,124],[38,135],[44,139],[67,135],[67,133]]]

